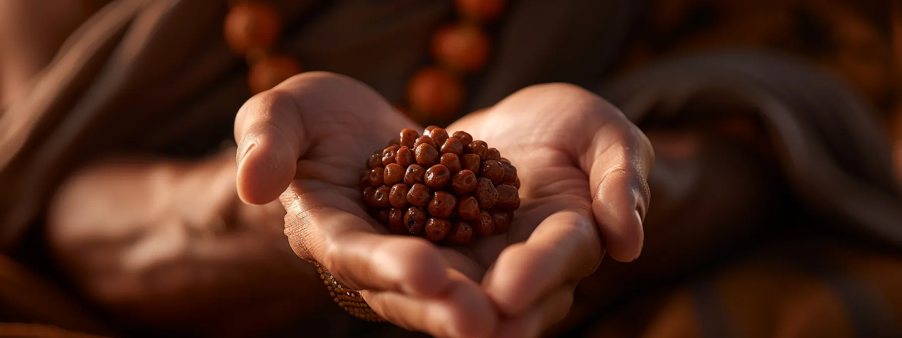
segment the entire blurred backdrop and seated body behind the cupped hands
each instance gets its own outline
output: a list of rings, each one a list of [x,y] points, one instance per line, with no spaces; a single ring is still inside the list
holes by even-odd
[[[0,333],[408,334],[235,196],[238,108],[325,70],[421,125],[567,82],[646,132],[642,258],[549,336],[902,336],[900,49],[894,0],[0,0]]]

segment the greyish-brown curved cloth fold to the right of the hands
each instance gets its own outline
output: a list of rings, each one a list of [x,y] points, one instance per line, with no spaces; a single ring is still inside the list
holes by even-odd
[[[902,190],[877,113],[823,70],[773,53],[717,51],[667,60],[601,92],[638,123],[699,101],[709,111],[753,112],[805,206],[842,227],[838,234],[902,248]]]

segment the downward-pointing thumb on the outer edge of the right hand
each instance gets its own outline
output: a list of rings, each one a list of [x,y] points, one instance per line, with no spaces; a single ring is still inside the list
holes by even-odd
[[[594,141],[581,161],[592,187],[592,211],[605,248],[620,261],[639,258],[649,209],[649,172],[654,165],[651,143],[613,106],[612,116],[594,131]]]

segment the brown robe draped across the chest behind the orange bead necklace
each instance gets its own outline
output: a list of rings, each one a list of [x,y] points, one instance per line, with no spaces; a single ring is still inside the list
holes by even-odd
[[[275,1],[281,50],[308,70],[358,78],[391,101],[428,57],[451,1]],[[71,34],[30,94],[0,115],[0,250],[41,219],[80,163],[113,151],[196,156],[231,137],[250,97],[222,37],[225,0],[115,0]],[[588,86],[623,49],[643,1],[512,2],[469,107],[530,84]]]

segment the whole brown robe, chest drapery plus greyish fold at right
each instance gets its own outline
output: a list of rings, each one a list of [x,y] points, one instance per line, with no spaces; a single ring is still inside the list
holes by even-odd
[[[281,50],[395,102],[427,61],[429,33],[453,13],[452,1],[276,2],[288,23]],[[829,224],[811,229],[902,249],[902,191],[873,107],[822,69],[761,51],[686,55],[611,79],[647,9],[637,0],[511,1],[491,27],[492,61],[468,81],[468,109],[546,82],[597,89],[638,124],[699,101],[750,109],[788,184]],[[21,249],[60,182],[89,160],[193,157],[231,138],[250,94],[244,60],[222,38],[226,11],[224,0],[114,0],[71,34],[30,94],[0,113],[0,252]]]

